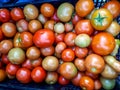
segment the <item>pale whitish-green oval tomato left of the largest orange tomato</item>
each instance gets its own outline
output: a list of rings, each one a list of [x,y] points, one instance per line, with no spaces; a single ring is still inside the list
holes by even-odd
[[[75,38],[75,45],[81,48],[88,47],[90,45],[91,39],[87,34],[79,34]]]

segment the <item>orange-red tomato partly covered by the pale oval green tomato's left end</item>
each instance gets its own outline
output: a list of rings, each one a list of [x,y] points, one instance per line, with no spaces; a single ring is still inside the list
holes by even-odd
[[[74,46],[75,42],[74,39],[76,38],[76,34],[74,32],[68,32],[66,33],[64,37],[64,42],[67,46]]]

